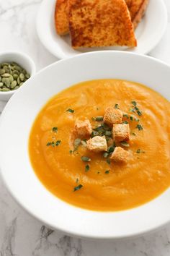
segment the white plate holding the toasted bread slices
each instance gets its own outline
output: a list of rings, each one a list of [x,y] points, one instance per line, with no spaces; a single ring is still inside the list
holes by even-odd
[[[84,48],[76,51],[71,48],[69,35],[60,36],[55,32],[55,1],[42,1],[37,15],[37,34],[45,48],[59,59],[75,56],[82,52],[103,50],[125,50],[136,54],[148,54],[161,40],[167,24],[167,12],[164,1],[149,0],[146,14],[135,30],[138,47],[129,49],[123,47]]]

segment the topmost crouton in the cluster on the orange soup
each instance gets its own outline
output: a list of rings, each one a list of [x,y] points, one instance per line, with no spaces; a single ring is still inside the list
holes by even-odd
[[[104,123],[106,124],[121,124],[122,111],[117,108],[108,107],[104,114]]]

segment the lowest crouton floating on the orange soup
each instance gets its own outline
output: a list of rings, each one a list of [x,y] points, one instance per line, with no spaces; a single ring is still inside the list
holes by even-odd
[[[128,161],[129,153],[121,147],[116,147],[110,159],[114,162],[126,163]]]

